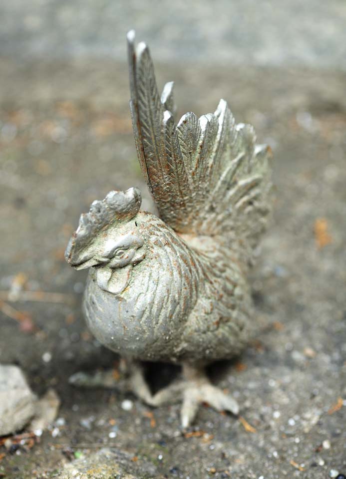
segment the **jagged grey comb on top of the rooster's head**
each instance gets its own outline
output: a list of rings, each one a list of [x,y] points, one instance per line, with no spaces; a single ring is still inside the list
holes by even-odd
[[[104,200],[93,201],[89,213],[80,215],[78,228],[65,251],[66,260],[71,262],[74,253],[89,244],[90,240],[107,226],[134,218],[141,203],[141,192],[138,188],[110,191]]]

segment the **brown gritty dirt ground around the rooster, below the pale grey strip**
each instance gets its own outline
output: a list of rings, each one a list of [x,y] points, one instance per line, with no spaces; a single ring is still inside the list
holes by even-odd
[[[158,65],[161,85],[176,81],[178,113],[213,111],[224,97],[275,156],[273,222],[251,277],[261,332],[239,359],[210,370],[243,419],[203,407],[182,432],[179,405],[150,409],[121,388],[68,384],[76,371],[117,367],[84,325],[85,274],[63,258],[79,214],[131,186],[152,208],[136,160],[126,65],[3,58],[0,70],[0,362],[20,365],[38,395],[53,387],[61,399],[57,422],[36,444],[0,447],[0,477],[62,477],[65,464],[71,478],[346,474],[346,74]],[[42,301],[8,301],[17,283]],[[151,368],[154,388],[176,372]],[[130,458],[128,476],[79,470],[101,448],[115,455],[102,456],[110,468]]]

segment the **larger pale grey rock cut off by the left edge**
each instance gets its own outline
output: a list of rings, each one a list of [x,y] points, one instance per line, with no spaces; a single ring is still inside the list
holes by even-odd
[[[34,415],[36,401],[22,371],[0,365],[0,436],[23,428]]]

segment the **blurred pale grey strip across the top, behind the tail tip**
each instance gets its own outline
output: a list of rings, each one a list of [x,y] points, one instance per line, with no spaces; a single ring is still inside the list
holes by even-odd
[[[0,18],[0,52],[21,59],[123,60],[135,28],[156,61],[346,70],[342,0],[11,0]]]

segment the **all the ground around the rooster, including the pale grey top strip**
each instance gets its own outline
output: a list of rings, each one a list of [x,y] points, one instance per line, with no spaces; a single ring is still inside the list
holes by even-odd
[[[128,453],[135,477],[346,474],[345,2],[12,0],[0,17],[0,362],[62,402],[39,444],[0,449],[0,477],[58,476],[101,447]],[[211,370],[252,432],[202,408],[182,434],[178,406],[150,410],[121,389],[67,382],[117,360],[86,330],[85,274],[63,259],[78,216],[135,185],[152,208],[128,111],[131,27],[159,84],[175,80],[178,115],[224,97],[274,151],[273,225],[251,278],[266,326],[238,361]],[[20,284],[55,302],[8,301]]]

